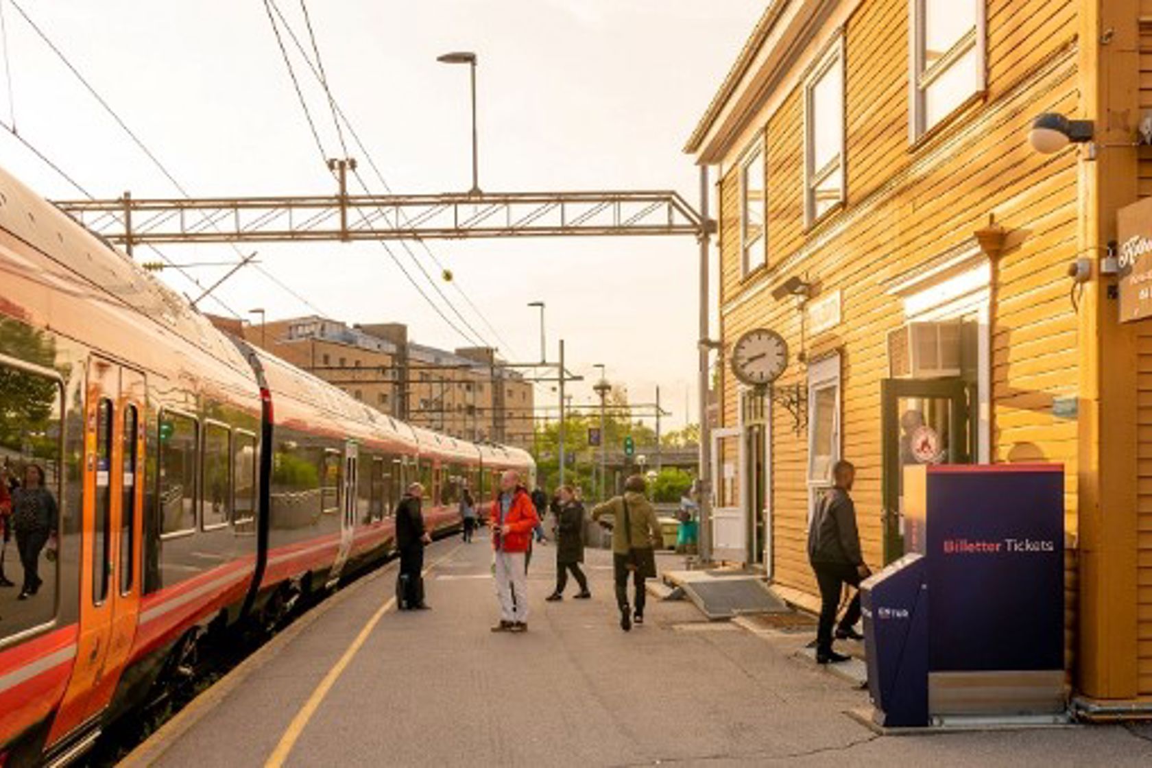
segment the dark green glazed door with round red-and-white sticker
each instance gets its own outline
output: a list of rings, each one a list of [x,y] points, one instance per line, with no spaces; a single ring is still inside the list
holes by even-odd
[[[975,389],[961,379],[880,382],[885,563],[904,554],[903,467],[971,463],[973,402]]]

